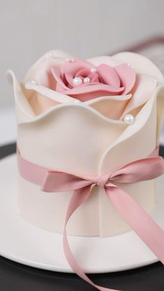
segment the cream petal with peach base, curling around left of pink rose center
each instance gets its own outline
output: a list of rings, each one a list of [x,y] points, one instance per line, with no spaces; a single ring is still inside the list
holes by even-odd
[[[31,106],[36,115],[40,115],[51,106],[56,106],[60,102],[71,101],[69,97],[58,94],[56,90],[56,80],[51,74],[51,67],[60,69],[66,58],[71,58],[64,51],[51,51],[46,53],[28,70],[25,77],[26,89],[31,89]],[[38,85],[33,85],[31,80],[35,80]]]

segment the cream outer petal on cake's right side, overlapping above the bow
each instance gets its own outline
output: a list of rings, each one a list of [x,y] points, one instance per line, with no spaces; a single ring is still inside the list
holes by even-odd
[[[154,91],[135,118],[135,122],[127,126],[120,137],[108,148],[101,159],[100,173],[114,171],[133,160],[149,156],[156,146],[156,99],[158,106],[163,106],[164,95],[159,94],[161,85]],[[164,109],[164,108],[163,108]],[[160,121],[161,123],[161,121]]]

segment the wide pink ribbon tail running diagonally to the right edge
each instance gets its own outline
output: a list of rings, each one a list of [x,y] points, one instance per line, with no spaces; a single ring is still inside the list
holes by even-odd
[[[106,194],[124,220],[164,265],[164,231],[124,190],[113,185]]]

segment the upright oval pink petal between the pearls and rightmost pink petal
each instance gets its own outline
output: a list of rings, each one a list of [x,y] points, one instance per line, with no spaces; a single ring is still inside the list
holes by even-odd
[[[115,69],[113,69],[113,67],[110,67],[109,65],[101,64],[97,67],[97,72],[103,80],[102,83],[106,83],[115,88],[120,87],[121,85],[120,77],[117,75],[117,72],[115,72]]]

